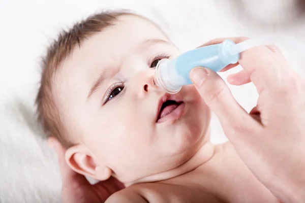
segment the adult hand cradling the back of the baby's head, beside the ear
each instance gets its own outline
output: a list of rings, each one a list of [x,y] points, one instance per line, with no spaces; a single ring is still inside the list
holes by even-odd
[[[91,185],[87,179],[72,171],[65,160],[66,149],[54,138],[49,138],[48,144],[58,156],[60,173],[62,174],[62,202],[88,203],[105,202],[106,199],[125,186],[115,178]]]

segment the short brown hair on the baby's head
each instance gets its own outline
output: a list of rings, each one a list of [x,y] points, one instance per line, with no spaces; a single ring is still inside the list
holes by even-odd
[[[63,126],[60,109],[55,105],[52,84],[60,64],[72,53],[75,46],[106,27],[114,25],[121,15],[136,15],[127,11],[102,12],[74,24],[68,31],[62,31],[58,38],[51,43],[45,57],[42,59],[42,76],[36,98],[38,119],[46,133],[55,137],[65,147],[75,143],[69,139],[68,132]],[[136,15],[137,16],[137,15]]]

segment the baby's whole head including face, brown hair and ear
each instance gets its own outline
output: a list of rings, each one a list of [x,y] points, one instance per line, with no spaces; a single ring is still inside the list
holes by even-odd
[[[74,171],[130,183],[201,148],[210,111],[195,87],[169,95],[154,83],[158,61],[178,54],[156,24],[124,12],[91,16],[49,47],[38,113]]]

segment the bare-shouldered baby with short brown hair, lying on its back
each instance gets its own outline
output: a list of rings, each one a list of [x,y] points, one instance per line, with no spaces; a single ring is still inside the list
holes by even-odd
[[[179,50],[148,19],[93,15],[63,32],[43,61],[38,112],[67,147],[66,161],[127,187],[106,202],[278,202],[230,143],[209,142],[210,110],[194,85],[167,94],[154,82]]]

